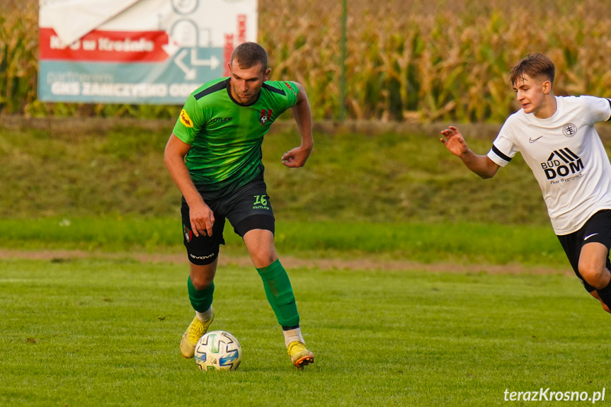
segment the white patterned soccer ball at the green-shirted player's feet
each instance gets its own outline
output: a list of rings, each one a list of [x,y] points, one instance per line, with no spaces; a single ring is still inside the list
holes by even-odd
[[[241,360],[242,348],[229,332],[208,332],[195,345],[195,363],[201,370],[235,370]]]

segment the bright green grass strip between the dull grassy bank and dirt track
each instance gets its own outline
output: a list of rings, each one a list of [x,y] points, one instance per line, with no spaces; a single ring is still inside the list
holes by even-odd
[[[36,251],[183,253],[180,219],[0,219],[0,247]],[[227,224],[224,251],[246,256]],[[568,268],[551,227],[501,224],[278,222],[280,254],[422,263],[525,263]]]

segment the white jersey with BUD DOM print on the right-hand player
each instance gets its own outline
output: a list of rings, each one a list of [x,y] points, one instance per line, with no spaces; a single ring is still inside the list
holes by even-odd
[[[488,156],[504,167],[520,151],[539,182],[554,232],[564,235],[611,209],[611,164],[594,128],[610,120],[611,100],[556,96],[556,102],[547,119],[521,109],[510,115]]]

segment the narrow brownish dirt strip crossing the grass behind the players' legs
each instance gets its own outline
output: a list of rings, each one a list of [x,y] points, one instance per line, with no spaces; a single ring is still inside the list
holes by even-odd
[[[19,251],[0,248],[0,258],[20,258],[30,260],[49,260],[53,263],[61,263],[82,258],[101,259],[132,259],[141,263],[176,263],[188,265],[184,253],[105,253],[100,251]],[[286,268],[318,268],[320,270],[404,270],[404,271],[429,271],[431,273],[489,273],[489,274],[563,274],[573,275],[570,268],[546,268],[538,266],[508,264],[455,264],[455,263],[418,263],[409,260],[378,260],[373,257],[341,259],[341,258],[297,258],[293,256],[282,256],[282,265]],[[236,265],[239,267],[252,266],[248,256],[219,257],[219,266]]]

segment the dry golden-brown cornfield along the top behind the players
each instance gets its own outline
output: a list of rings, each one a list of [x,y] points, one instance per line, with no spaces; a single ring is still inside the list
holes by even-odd
[[[176,106],[41,103],[38,1],[0,0],[0,114],[175,117]],[[502,122],[508,71],[528,52],[556,64],[556,95],[611,96],[611,8],[603,0],[259,1],[272,79],[302,83],[315,120]]]

